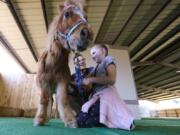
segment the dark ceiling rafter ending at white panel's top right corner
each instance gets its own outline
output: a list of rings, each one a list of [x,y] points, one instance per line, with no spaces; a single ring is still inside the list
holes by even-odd
[[[133,40],[127,45],[130,46],[140,35],[141,33],[153,22],[153,20],[165,9],[165,7],[171,2],[171,0],[168,0],[161,9],[150,19],[150,21],[144,26],[143,29],[140,30],[140,32],[133,38]]]

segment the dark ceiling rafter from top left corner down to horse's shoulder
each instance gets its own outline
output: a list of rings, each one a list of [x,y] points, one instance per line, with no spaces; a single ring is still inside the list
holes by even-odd
[[[29,39],[28,39],[28,37],[26,35],[26,32],[25,32],[25,30],[24,30],[24,28],[23,28],[23,26],[21,24],[21,21],[20,21],[18,15],[16,13],[16,10],[15,10],[15,8],[13,6],[12,1],[11,0],[6,0],[6,2],[7,2],[8,8],[9,8],[9,10],[10,10],[10,12],[11,12],[11,14],[12,14],[12,16],[13,16],[13,18],[14,18],[14,20],[15,20],[18,28],[19,28],[19,30],[22,33],[22,36],[24,37],[24,39],[25,39],[25,41],[26,41],[26,43],[28,45],[29,50],[31,51],[31,54],[34,57],[34,60],[37,62],[38,61],[37,55],[35,54],[35,51],[34,51],[32,45],[31,45],[31,43],[30,43],[30,41],[29,41]]]

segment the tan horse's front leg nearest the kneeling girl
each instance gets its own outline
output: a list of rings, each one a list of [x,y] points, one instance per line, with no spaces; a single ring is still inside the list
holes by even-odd
[[[65,123],[65,126],[68,126],[70,128],[76,128],[77,124],[75,119],[75,113],[69,104],[66,82],[58,83],[56,89],[56,101],[59,116]]]

